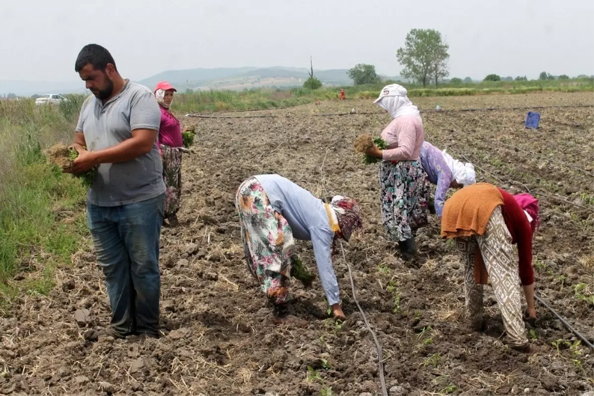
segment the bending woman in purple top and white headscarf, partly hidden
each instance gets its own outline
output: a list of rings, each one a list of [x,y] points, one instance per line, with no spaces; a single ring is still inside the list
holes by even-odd
[[[421,165],[435,190],[434,208],[441,218],[445,203],[445,194],[449,188],[460,188],[476,183],[475,167],[467,162],[463,164],[451,155],[441,151],[429,142],[421,147]]]

